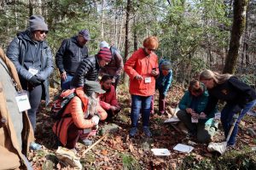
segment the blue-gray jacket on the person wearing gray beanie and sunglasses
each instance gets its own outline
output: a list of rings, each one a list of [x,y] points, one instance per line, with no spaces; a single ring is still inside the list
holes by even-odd
[[[10,42],[7,48],[7,56],[15,64],[23,89],[27,90],[27,84],[32,78],[29,66],[36,67],[39,71],[37,77],[44,80],[42,99],[49,104],[49,76],[54,70],[50,48],[46,42],[32,41],[30,31],[23,31]],[[32,48],[34,51],[32,51]],[[35,53],[33,53],[35,52]],[[36,55],[34,55],[36,54]]]

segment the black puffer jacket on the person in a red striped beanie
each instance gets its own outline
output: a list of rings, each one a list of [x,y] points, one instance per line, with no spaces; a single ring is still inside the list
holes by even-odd
[[[72,86],[74,88],[83,87],[85,79],[96,81],[98,79],[99,70],[100,65],[96,55],[83,59],[73,77]]]

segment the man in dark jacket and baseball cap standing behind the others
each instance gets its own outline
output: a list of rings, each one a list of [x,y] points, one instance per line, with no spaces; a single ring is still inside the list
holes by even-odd
[[[61,72],[61,90],[70,88],[70,82],[79,67],[80,61],[88,57],[88,48],[85,44],[89,40],[89,31],[81,30],[78,36],[65,39],[61,43],[55,57],[55,63]]]

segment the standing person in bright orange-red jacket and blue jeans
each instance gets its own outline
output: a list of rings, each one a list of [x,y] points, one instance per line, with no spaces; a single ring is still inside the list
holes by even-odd
[[[143,48],[135,51],[125,63],[125,72],[130,77],[131,130],[130,136],[137,133],[140,113],[143,117],[143,132],[151,137],[149,130],[150,102],[154,95],[155,78],[159,75],[158,59],[154,54],[159,46],[157,37],[147,37]]]

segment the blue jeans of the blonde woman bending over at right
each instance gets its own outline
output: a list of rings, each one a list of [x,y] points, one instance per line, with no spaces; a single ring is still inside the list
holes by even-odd
[[[237,119],[233,132],[231,133],[230,139],[228,141],[228,145],[236,144],[236,134],[238,133],[238,124],[241,122],[242,117],[246,115],[247,111],[250,111],[253,105],[255,104],[256,104],[256,99],[247,103],[247,105],[244,106],[240,116]],[[236,111],[234,111],[235,107],[236,105],[227,104],[224,106],[224,109],[221,111],[221,123],[224,128],[224,134],[226,138],[229,134],[230,127],[232,126],[233,116],[236,114]]]

